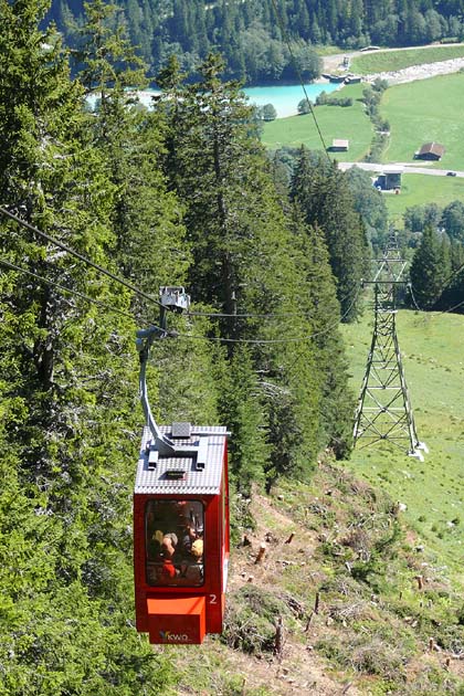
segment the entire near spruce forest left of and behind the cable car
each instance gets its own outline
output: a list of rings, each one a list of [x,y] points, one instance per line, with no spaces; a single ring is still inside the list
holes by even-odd
[[[328,160],[268,159],[219,55],[190,80],[171,57],[147,110],[114,8],[86,7],[78,53],[43,0],[0,8],[0,694],[164,693],[133,620],[135,331],[184,285],[150,366],[160,422],[226,424],[244,494],[308,478],[351,447],[339,321],[367,224]]]

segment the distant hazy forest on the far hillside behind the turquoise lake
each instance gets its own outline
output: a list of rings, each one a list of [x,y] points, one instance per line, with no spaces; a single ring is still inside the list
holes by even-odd
[[[171,54],[194,72],[210,51],[224,74],[252,83],[313,80],[316,50],[334,44],[405,46],[462,39],[462,0],[119,0],[115,27],[125,25],[152,80]],[[53,19],[77,48],[85,23],[81,0],[53,0]]]

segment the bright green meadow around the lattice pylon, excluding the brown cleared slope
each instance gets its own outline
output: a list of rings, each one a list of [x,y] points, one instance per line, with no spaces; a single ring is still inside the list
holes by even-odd
[[[456,578],[464,562],[464,316],[398,313],[397,331],[420,441],[420,462],[397,446],[362,449],[344,465],[407,506],[405,520],[418,544],[435,553]],[[342,327],[358,394],[372,336],[372,309]]]

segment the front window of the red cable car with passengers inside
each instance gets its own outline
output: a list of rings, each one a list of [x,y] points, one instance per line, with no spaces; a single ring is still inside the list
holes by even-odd
[[[145,510],[147,583],[202,586],[203,530],[201,500],[149,500]]]

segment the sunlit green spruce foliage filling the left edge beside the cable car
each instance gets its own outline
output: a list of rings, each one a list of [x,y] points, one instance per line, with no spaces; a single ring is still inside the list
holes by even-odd
[[[114,186],[60,38],[39,29],[44,11],[35,0],[0,3],[2,203],[116,270]],[[2,218],[0,236],[3,260],[23,268],[2,275],[0,297],[2,687],[135,693],[149,681],[160,690],[175,677],[127,623],[136,447],[123,433],[135,425],[136,365],[134,321],[116,310],[130,298],[21,224]]]

